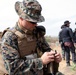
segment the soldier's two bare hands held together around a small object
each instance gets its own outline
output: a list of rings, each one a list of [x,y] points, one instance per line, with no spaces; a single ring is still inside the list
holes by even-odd
[[[62,60],[60,53],[55,53],[55,51],[51,51],[51,52],[45,52],[42,56],[41,56],[42,62],[43,64],[48,64],[52,61],[56,61],[56,62],[60,62]]]

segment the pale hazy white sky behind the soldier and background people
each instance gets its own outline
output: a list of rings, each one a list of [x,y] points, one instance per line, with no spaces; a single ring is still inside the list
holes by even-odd
[[[22,0],[0,1],[0,31],[7,27],[13,27],[18,21],[14,4]],[[74,30],[76,22],[76,0],[38,0],[42,5],[42,15],[45,22],[39,23],[46,27],[46,35],[58,36],[61,25],[65,20],[71,22],[70,27]]]

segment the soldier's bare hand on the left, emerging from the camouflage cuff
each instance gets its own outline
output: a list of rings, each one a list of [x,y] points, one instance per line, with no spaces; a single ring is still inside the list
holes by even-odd
[[[42,59],[42,63],[44,65],[54,61],[54,55],[55,55],[55,52],[54,51],[51,51],[51,52],[45,52],[42,56],[41,56],[41,59]]]

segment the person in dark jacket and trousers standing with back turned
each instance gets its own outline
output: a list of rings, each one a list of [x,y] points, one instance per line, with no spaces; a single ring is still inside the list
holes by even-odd
[[[65,48],[66,64],[67,66],[70,66],[70,51],[72,53],[73,63],[76,63],[76,59],[75,59],[73,31],[70,28],[70,22],[68,20],[64,22],[64,28],[62,29],[61,37]]]

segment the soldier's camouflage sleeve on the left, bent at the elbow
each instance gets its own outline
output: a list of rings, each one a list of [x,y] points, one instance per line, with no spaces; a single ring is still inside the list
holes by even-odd
[[[1,49],[5,67],[9,75],[39,75],[39,71],[43,68],[40,58],[20,59],[17,37],[12,32],[8,31],[4,34]]]

